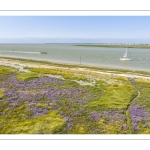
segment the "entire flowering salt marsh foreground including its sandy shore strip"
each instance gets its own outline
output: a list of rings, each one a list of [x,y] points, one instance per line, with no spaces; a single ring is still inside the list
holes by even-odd
[[[149,72],[1,58],[0,133],[149,134],[149,93]]]

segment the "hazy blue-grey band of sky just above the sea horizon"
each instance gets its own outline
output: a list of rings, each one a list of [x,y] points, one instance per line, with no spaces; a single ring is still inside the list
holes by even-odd
[[[0,38],[0,43],[122,43],[150,44],[150,39],[125,38]]]

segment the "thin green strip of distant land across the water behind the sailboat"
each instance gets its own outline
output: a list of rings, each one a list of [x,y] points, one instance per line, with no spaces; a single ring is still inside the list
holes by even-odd
[[[150,45],[110,45],[110,44],[76,44],[75,46],[90,46],[90,47],[110,47],[110,48],[146,48],[149,49]]]

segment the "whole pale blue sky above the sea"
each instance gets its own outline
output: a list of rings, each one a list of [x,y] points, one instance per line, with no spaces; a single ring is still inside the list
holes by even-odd
[[[149,16],[0,16],[0,43],[150,43]]]

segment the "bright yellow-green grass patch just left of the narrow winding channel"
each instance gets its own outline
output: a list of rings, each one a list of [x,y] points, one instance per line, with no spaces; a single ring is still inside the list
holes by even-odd
[[[108,85],[103,81],[101,85],[103,86],[104,94],[100,97],[100,99],[91,101],[88,104],[89,109],[98,110],[99,108],[127,108],[131,100],[137,94],[136,90],[131,85],[128,85],[127,82],[123,85],[115,83],[113,86]]]

